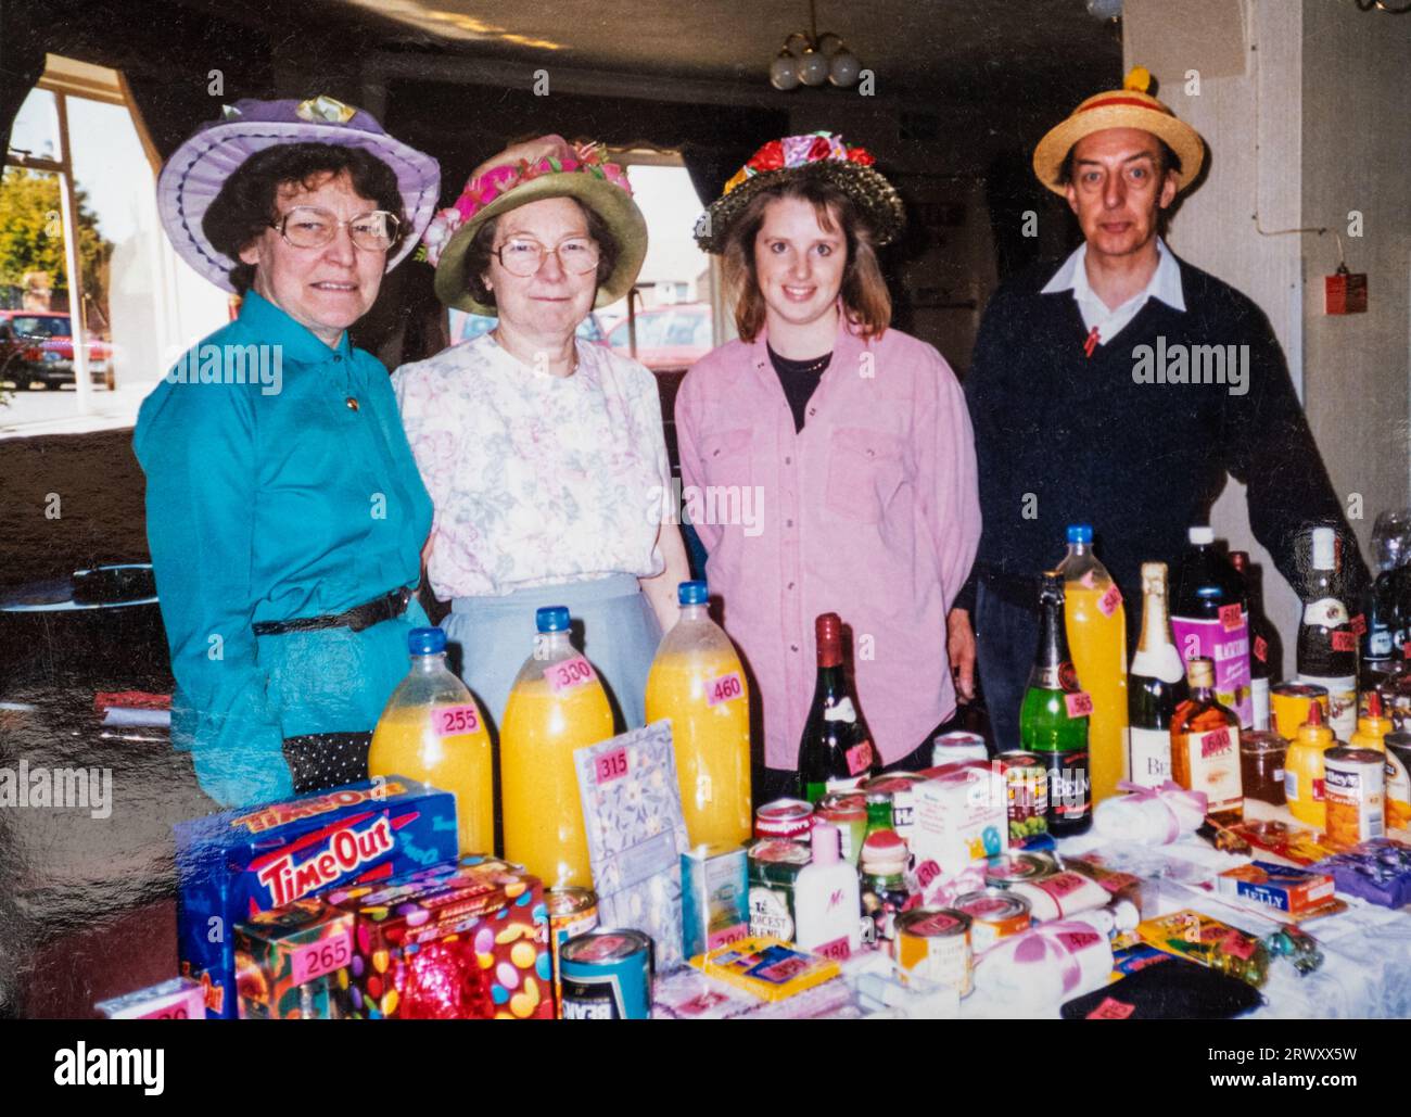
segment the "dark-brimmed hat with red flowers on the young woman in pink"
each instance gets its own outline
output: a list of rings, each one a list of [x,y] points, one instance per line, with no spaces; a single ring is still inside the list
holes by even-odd
[[[729,227],[756,193],[801,175],[821,178],[854,200],[872,227],[873,244],[890,244],[906,224],[896,188],[873,166],[866,148],[848,144],[837,133],[810,133],[770,140],[749,157],[725,183],[725,190],[696,221],[696,243],[706,252],[722,252]]]

